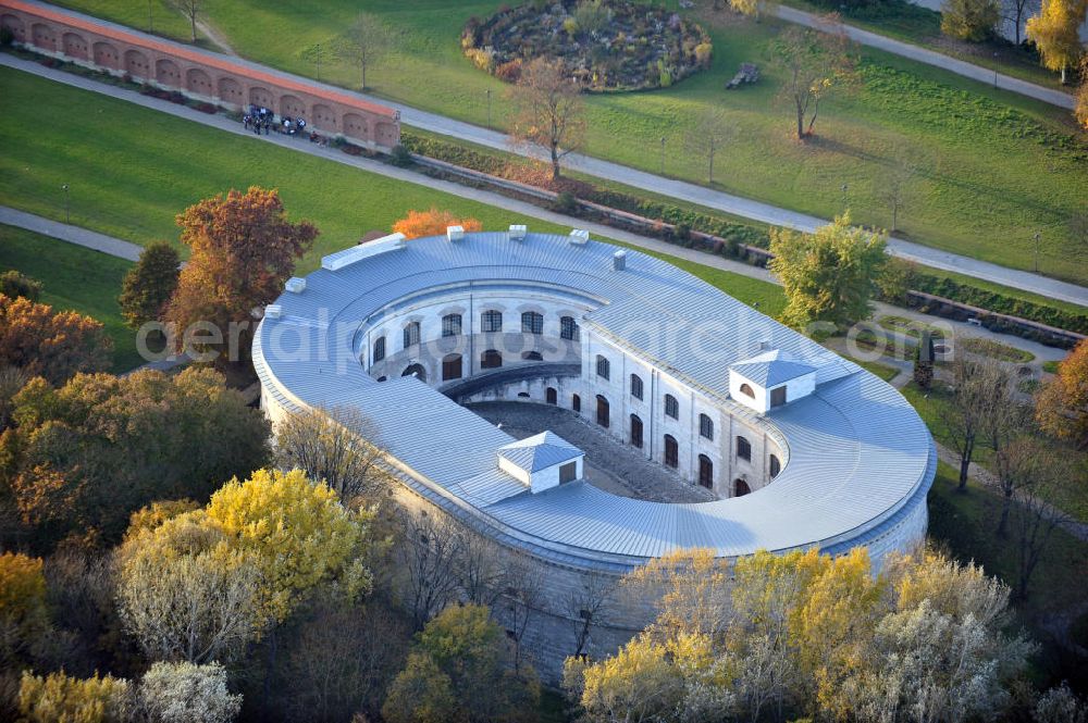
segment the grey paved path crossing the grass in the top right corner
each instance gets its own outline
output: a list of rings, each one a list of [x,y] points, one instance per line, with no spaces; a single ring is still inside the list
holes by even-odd
[[[807,27],[820,27],[823,25],[823,21],[819,15],[806,13],[803,10],[796,10],[794,8],[787,8],[786,5],[778,5],[775,10],[775,14],[781,20],[790,23],[796,23],[799,25],[805,25]],[[1047,88],[1044,86],[1029,83],[1027,80],[1021,80],[1019,78],[1014,78],[1010,75],[1001,73],[994,75],[993,71],[988,67],[982,67],[981,65],[975,65],[974,63],[968,63],[967,61],[951,58],[944,53],[922,48],[911,42],[895,40],[886,35],[880,35],[879,33],[863,30],[862,28],[854,27],[853,25],[843,25],[843,29],[851,40],[863,46],[876,48],[877,50],[883,50],[885,52],[890,52],[894,55],[925,63],[926,65],[940,67],[949,73],[955,73],[956,75],[962,75],[965,78],[978,80],[979,83],[985,83],[1002,90],[1010,90],[1022,96],[1027,96],[1028,98],[1041,100],[1044,103],[1050,103],[1051,105],[1058,105],[1060,108],[1067,108],[1072,110],[1075,104],[1073,96],[1067,92],[1062,92],[1061,90]]]

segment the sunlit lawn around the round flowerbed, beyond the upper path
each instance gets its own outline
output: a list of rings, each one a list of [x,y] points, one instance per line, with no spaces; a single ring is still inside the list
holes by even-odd
[[[122,15],[121,0],[67,3]],[[355,68],[331,58],[319,67],[304,53],[327,47],[358,12],[371,12],[394,35],[394,50],[368,75],[375,94],[484,124],[491,90],[493,122],[503,126],[505,86],[474,68],[458,42],[466,20],[491,14],[498,4],[209,0],[207,16],[247,58],[356,87]],[[719,14],[707,26],[715,42],[710,71],[664,90],[588,99],[588,152],[656,172],[664,137],[666,173],[704,182],[705,161],[689,139],[698,119],[716,109],[733,129],[716,161],[718,187],[828,217],[849,205],[854,221],[874,226],[890,224],[885,178],[894,158],[905,155],[917,172],[901,212],[903,236],[1029,269],[1039,232],[1042,272],[1088,281],[1066,228],[1088,198],[1088,140],[1067,112],[866,50],[855,91],[823,104],[818,137],[800,145],[790,138],[790,111],[778,98],[783,74],[772,63],[783,25]],[[757,63],[762,80],[726,92],[722,86],[741,62]]]

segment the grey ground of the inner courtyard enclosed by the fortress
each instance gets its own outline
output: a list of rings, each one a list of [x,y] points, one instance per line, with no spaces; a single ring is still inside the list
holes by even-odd
[[[713,493],[692,485],[651,462],[573,412],[529,402],[497,401],[466,404],[518,439],[549,429],[585,452],[585,478],[614,495],[654,502],[708,502]]]

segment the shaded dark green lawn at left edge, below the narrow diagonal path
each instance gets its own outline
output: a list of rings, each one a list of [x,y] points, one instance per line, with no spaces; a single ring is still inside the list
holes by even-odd
[[[42,303],[102,322],[113,339],[114,373],[143,363],[136,335],[125,326],[118,306],[121,279],[131,266],[124,259],[0,225],[0,271],[16,269],[45,284]]]

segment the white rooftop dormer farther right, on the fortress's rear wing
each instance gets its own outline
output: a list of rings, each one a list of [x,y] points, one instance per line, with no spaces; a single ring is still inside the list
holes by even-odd
[[[729,367],[729,396],[764,414],[807,397],[816,389],[816,367],[795,361],[780,349]]]

